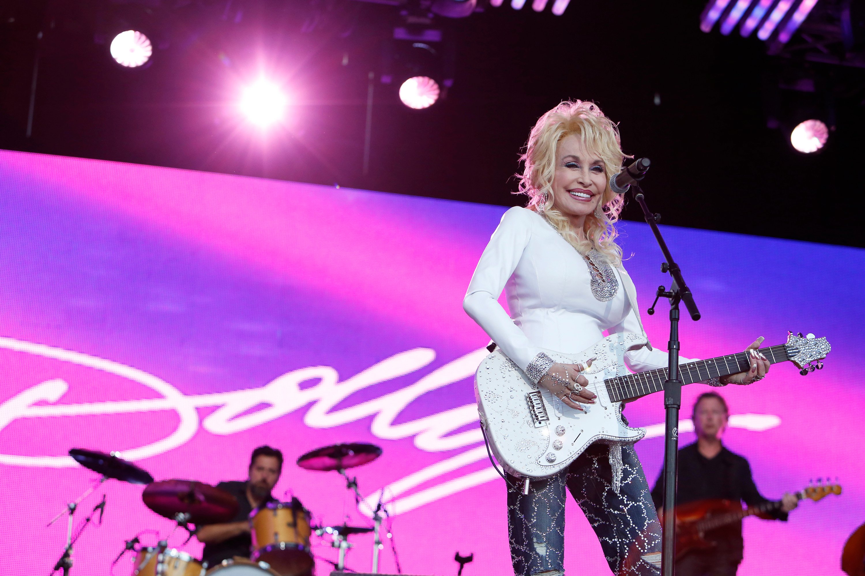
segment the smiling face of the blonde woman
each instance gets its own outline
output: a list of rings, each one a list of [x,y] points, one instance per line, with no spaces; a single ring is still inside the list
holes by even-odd
[[[556,150],[553,202],[571,225],[582,230],[586,216],[594,212],[607,186],[604,161],[586,149],[580,136],[565,136]]]

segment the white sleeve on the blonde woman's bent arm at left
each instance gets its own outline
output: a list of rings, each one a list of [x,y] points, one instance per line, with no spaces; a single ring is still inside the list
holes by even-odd
[[[531,214],[525,208],[514,207],[504,212],[490,244],[484,249],[475,273],[471,275],[465,293],[465,312],[484,328],[490,338],[523,371],[541,349],[531,345],[519,326],[498,303],[505,283],[514,273],[522,252],[531,238]]]

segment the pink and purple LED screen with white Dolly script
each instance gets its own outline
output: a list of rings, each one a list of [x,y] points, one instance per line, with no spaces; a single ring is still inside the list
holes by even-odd
[[[65,522],[45,525],[96,477],[70,447],[120,451],[157,479],[216,483],[245,479],[252,449],[270,444],[286,456],[277,497],[300,498],[317,523],[368,525],[336,472],[293,464],[363,441],[383,456],[351,472],[370,502],[381,491],[392,501],[383,571],[395,572],[393,545],[406,573],[455,574],[456,552],[474,553],[468,576],[509,573],[503,482],[471,384],[488,340],[461,306],[503,207],[12,152],[0,153],[0,190],[0,571],[48,574],[61,554]],[[621,229],[647,307],[668,277],[647,227]],[[812,478],[843,484],[790,522],[746,519],[740,574],[841,573],[843,542],[865,522],[855,358],[865,252],[663,230],[703,313],[682,321],[683,355],[740,351],[758,336],[779,344],[787,330],[830,339],[824,370],[777,364],[721,394],[734,415],[726,444],[750,459],[766,497]],[[664,347],[659,309],[644,320]],[[705,390],[684,390],[683,418]],[[650,426],[637,450],[652,484],[662,397],[627,415]],[[111,568],[124,540],[169,535],[142,489],[109,481],[82,504],[77,520],[106,494],[73,573],[129,574],[128,555]],[[170,546],[197,554],[184,538]],[[567,542],[569,572],[608,573],[573,502]],[[348,567],[368,570],[371,537],[353,543]],[[327,539],[312,549],[336,559]]]

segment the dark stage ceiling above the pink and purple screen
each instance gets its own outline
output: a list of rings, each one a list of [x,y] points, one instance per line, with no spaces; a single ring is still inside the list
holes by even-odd
[[[13,0],[0,8],[0,147],[516,205],[512,174],[536,118],[561,99],[592,99],[620,122],[626,152],[651,158],[645,189],[664,224],[865,247],[854,207],[865,188],[855,176],[865,69],[704,34],[704,0],[572,0],[561,17],[507,4],[434,19],[456,54],[454,84],[412,111],[397,82],[379,81],[382,42],[404,23],[394,6]],[[127,24],[150,32],[150,66],[109,57]],[[264,137],[233,108],[259,69],[292,92],[289,130]],[[802,77],[813,92],[779,89]],[[810,116],[836,130],[821,153],[803,155],[789,132]]]

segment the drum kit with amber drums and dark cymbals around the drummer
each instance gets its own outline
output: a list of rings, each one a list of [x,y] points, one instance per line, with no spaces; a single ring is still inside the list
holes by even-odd
[[[227,491],[195,480],[170,479],[155,482],[151,475],[138,465],[119,458],[117,453],[100,453],[93,450],[73,448],[69,451],[80,465],[101,475],[88,491],[73,503],[68,503],[54,520],[68,516],[67,545],[61,559],[54,565],[52,574],[62,570],[68,576],[73,566],[72,550],[84,529],[92,522],[99,510],[99,523],[105,511],[105,495],[101,503],[93,509],[73,534],[73,516],[80,503],[99,485],[109,479],[131,484],[146,484],[142,494],[144,505],[160,516],[175,522],[171,533],[160,540],[157,546],[141,546],[138,536],[126,541],[124,550],[112,563],[112,570],[128,552],[135,554],[135,563],[130,576],[311,576],[315,570],[315,559],[311,554],[311,535],[324,537],[330,535],[330,546],[339,550],[339,560],[330,562],[337,571],[345,569],[345,557],[353,548],[348,539],[351,535],[374,534],[373,573],[378,573],[379,551],[381,548],[381,522],[384,511],[381,502],[373,514],[374,526],[312,526],[310,513],[294,503],[270,502],[255,510],[249,516],[250,533],[253,545],[250,558],[235,556],[233,560],[223,560],[221,564],[208,567],[191,555],[168,547],[168,539],[177,529],[189,533],[188,542],[195,535],[195,526],[231,522],[237,515],[237,499]],[[324,446],[298,459],[298,466],[318,472],[339,472],[346,479],[346,488],[354,492],[356,504],[362,496],[357,488],[357,478],[350,478],[346,470],[368,464],[381,456],[381,448],[373,444],[351,443]],[[190,526],[191,525],[191,526]],[[186,543],[184,542],[184,544]]]

